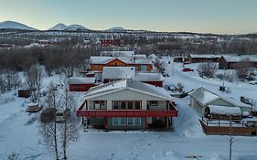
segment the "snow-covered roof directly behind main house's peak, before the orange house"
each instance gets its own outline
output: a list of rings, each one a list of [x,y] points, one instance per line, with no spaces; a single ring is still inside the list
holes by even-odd
[[[131,79],[135,75],[134,67],[104,67],[102,69],[103,80]]]

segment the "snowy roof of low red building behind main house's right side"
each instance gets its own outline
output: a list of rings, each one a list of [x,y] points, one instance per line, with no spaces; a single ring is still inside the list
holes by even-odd
[[[138,72],[134,80],[139,80],[139,81],[164,81],[164,77],[161,73],[144,73],[144,72]]]

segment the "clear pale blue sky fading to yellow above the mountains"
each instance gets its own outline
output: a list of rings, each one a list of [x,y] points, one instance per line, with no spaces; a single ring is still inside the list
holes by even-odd
[[[257,32],[257,0],[0,0],[0,22],[216,34]]]

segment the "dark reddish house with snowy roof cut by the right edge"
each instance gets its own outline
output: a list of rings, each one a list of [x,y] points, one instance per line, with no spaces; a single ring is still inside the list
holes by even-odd
[[[219,59],[219,69],[235,69],[244,65],[257,68],[257,55],[224,55]]]

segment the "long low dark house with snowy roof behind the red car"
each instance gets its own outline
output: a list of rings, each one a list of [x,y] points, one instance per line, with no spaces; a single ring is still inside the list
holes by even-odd
[[[202,62],[218,62],[220,55],[212,54],[189,54],[188,56],[190,63],[202,63]]]

